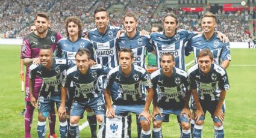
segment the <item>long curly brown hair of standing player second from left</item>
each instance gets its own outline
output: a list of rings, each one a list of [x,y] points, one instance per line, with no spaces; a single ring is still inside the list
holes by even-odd
[[[74,22],[77,26],[78,26],[78,37],[81,37],[82,35],[82,26],[83,26],[83,22],[80,20],[79,17],[77,16],[70,16],[67,17],[66,21],[65,21],[65,25],[66,25],[66,35],[67,37],[69,37],[69,32],[67,31],[67,26],[69,25],[70,22]]]

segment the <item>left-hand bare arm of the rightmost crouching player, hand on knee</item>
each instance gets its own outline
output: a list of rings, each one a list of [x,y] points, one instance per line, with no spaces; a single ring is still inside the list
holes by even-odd
[[[200,101],[199,101],[199,97],[198,97],[198,92],[196,91],[196,89],[192,89],[192,95],[193,95],[193,98],[194,98],[194,101],[196,103],[196,112],[195,112],[195,120],[196,122],[199,121],[199,118],[201,116],[204,116],[204,112],[202,110],[202,106],[200,104]]]

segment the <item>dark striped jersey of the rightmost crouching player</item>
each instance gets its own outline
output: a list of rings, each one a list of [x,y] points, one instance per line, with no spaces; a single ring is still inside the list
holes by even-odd
[[[198,64],[189,68],[188,73],[191,89],[197,89],[198,96],[202,100],[218,100],[220,89],[225,91],[229,89],[228,75],[224,68],[216,63],[211,64],[211,70],[206,76],[201,72]]]

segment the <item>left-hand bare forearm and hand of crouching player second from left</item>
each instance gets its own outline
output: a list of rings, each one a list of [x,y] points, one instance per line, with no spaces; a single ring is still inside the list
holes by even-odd
[[[63,119],[63,118],[66,118],[67,88],[64,88],[63,86],[61,86],[60,92],[61,92],[61,101],[60,101],[60,107],[58,108],[58,116],[59,118]]]

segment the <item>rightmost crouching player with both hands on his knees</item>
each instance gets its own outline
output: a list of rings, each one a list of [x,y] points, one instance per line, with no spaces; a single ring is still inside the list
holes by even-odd
[[[224,100],[229,89],[228,76],[224,68],[214,63],[213,53],[209,49],[201,50],[197,59],[198,64],[193,65],[188,71],[196,104],[196,109],[193,109],[193,137],[201,137],[207,110],[213,118],[214,137],[224,137]]]

